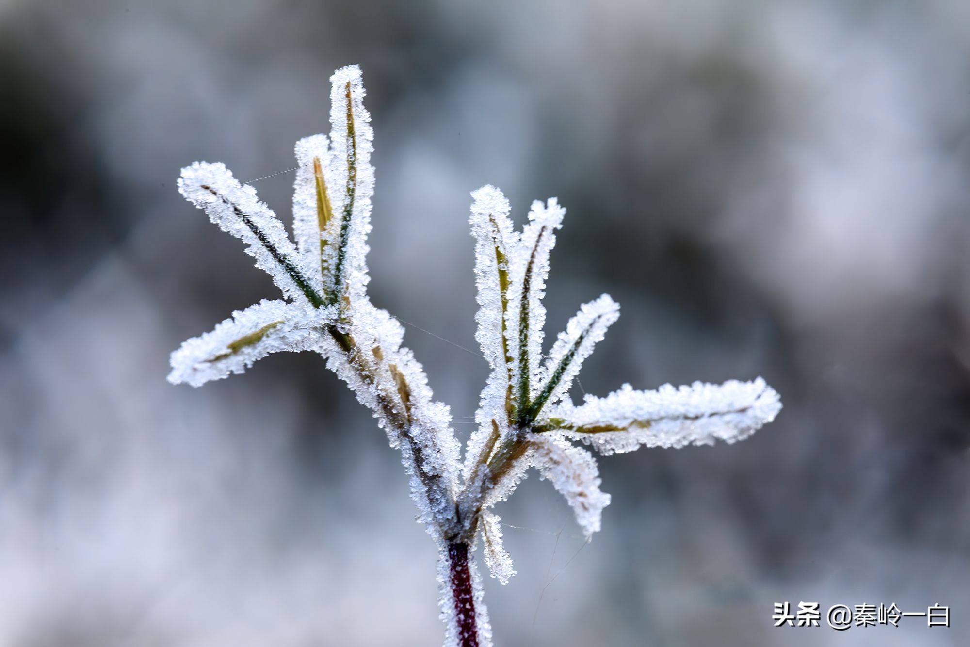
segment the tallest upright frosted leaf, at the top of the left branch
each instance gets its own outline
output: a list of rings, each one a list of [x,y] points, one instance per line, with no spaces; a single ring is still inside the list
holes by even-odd
[[[331,156],[330,169],[326,173],[327,188],[333,189],[330,202],[334,207],[334,219],[339,229],[347,233],[347,243],[343,257],[343,285],[339,291],[347,290],[353,300],[364,295],[371,277],[367,271],[368,234],[371,233],[371,198],[373,196],[373,128],[371,113],[364,108],[364,81],[361,69],[356,65],[340,68],[330,78],[331,108],[330,131]],[[349,87],[348,87],[349,85]],[[347,93],[350,94],[350,113],[347,118]],[[353,137],[348,137],[348,125],[352,121]],[[350,174],[351,163],[356,175]],[[344,223],[347,209],[351,207],[350,220]],[[328,265],[338,266],[339,245],[327,245]]]

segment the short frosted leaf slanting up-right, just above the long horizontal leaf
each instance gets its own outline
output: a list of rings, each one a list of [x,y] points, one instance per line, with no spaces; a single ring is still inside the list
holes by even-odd
[[[555,404],[568,392],[572,380],[579,373],[583,361],[593,353],[593,348],[606,335],[606,329],[620,318],[620,305],[613,301],[608,294],[600,296],[596,301],[583,304],[569,323],[566,331],[559,334],[559,339],[549,351],[542,370],[542,386],[551,379],[557,368],[568,355],[566,367],[562,372],[559,384],[553,389],[546,404]]]

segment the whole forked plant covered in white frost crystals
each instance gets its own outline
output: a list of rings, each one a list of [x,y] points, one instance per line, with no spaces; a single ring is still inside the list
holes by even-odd
[[[599,490],[593,455],[573,440],[601,454],[734,442],[774,419],[781,402],[758,378],[656,391],[624,385],[572,404],[566,395],[572,380],[620,307],[608,295],[583,305],[543,360],[542,297],[566,210],[555,198],[536,201],[520,233],[501,191],[484,186],[471,194],[469,221],[480,306],[475,337],[492,372],[463,464],[448,407],[433,400],[421,365],[401,345],[401,325],[368,298],[371,115],[357,66],[338,70],[331,82],[330,140],[314,135],[296,145],[296,245],[252,186],[225,166],[196,162],[182,169],[181,194],[242,239],[283,299],[233,312],[210,333],[185,341],[172,354],[169,380],[200,386],[283,350],[323,355],[401,450],[418,519],[438,549],[445,645],[484,647],[492,631],[473,552],[480,535],[492,575],[504,584],[515,573],[492,509],[529,468],[566,497],[589,536],[599,530],[610,496]]]

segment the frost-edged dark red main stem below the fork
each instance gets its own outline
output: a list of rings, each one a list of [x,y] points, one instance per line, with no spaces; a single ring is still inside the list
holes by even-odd
[[[467,546],[467,544],[466,544]],[[474,554],[468,550],[465,559],[468,560],[469,577],[471,580],[471,599],[458,600],[456,604],[454,588],[452,587],[452,558],[450,551],[456,550],[456,544],[438,543],[437,552],[437,604],[438,617],[444,623],[444,647],[462,647],[477,639],[478,647],[492,647],[492,625],[489,622],[488,607],[485,605],[485,591],[482,578],[475,564]],[[475,632],[472,636],[461,635],[460,620],[462,617],[474,615]]]

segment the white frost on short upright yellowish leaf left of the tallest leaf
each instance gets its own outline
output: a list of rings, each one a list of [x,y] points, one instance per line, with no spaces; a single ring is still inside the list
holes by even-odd
[[[327,227],[326,232],[320,231],[316,205],[316,176],[313,172],[313,159],[319,158],[327,194],[331,195],[333,182],[327,182],[327,172],[330,171],[330,146],[326,135],[312,135],[305,137],[295,146],[297,158],[297,177],[293,182],[293,236],[300,251],[304,273],[312,281],[313,286],[320,291],[323,275],[320,266],[320,243],[323,240],[333,241],[336,218]],[[324,279],[327,289],[333,278]],[[322,291],[321,291],[322,294]]]

